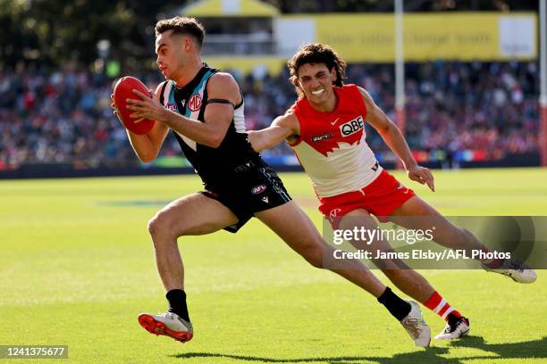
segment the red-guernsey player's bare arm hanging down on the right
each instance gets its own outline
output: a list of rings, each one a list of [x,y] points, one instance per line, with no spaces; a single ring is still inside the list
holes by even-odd
[[[366,105],[366,121],[378,131],[391,151],[403,162],[405,170],[408,172],[408,178],[422,185],[426,184],[434,192],[433,174],[429,169],[418,166],[417,161],[410,152],[407,141],[400,132],[400,128],[374,103],[373,98],[365,89],[359,87],[359,91],[363,95]]]

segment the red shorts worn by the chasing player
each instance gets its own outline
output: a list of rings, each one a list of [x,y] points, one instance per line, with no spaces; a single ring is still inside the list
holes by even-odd
[[[400,184],[387,170],[383,170],[373,183],[358,191],[319,198],[319,211],[325,219],[337,227],[342,216],[349,211],[364,209],[385,222],[403,203],[416,194],[410,188]]]

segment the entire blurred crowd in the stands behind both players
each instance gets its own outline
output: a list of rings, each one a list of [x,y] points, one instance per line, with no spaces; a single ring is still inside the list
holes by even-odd
[[[416,151],[480,150],[486,159],[538,150],[536,62],[429,62],[406,67],[406,133]],[[248,129],[265,128],[295,101],[288,73],[240,75]],[[134,75],[156,87],[159,74]],[[365,87],[394,120],[392,65],[351,65],[347,83]],[[109,107],[113,80],[78,66],[0,70],[0,170],[23,164],[72,168],[139,165]],[[368,128],[367,142],[383,160],[387,146]],[[290,153],[286,145],[268,155]],[[170,136],[164,156],[181,155]]]

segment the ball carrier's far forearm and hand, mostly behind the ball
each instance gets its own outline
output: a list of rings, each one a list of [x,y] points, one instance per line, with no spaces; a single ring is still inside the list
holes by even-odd
[[[159,89],[162,86],[160,84],[158,87],[156,87],[156,93],[152,93],[152,97],[154,100],[158,100],[159,102]],[[122,118],[118,115],[118,111],[116,106],[114,105],[114,95],[111,95],[111,98],[113,99],[113,102],[111,103],[111,107],[114,109],[114,114],[118,116],[118,120],[122,121]],[[149,99],[149,97],[147,97]],[[144,118],[140,118],[141,120]],[[154,118],[150,118],[151,120],[156,120]],[[154,124],[154,127],[145,135],[138,135],[130,132],[129,129],[127,130],[127,136],[130,140],[130,145],[133,148],[133,151],[135,151],[135,154],[139,157],[140,161],[154,161],[157,157],[157,154],[159,153],[162,145],[164,144],[165,136],[167,136],[167,132],[169,131],[169,128],[167,128],[163,123],[156,122]]]

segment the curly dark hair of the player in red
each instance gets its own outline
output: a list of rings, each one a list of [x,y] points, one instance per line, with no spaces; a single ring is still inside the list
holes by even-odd
[[[332,84],[338,87],[344,85],[347,64],[329,45],[320,43],[302,45],[287,62],[290,70],[290,83],[294,85],[300,98],[304,95],[299,88],[299,68],[306,63],[323,63],[329,70],[336,70],[336,80]]]

